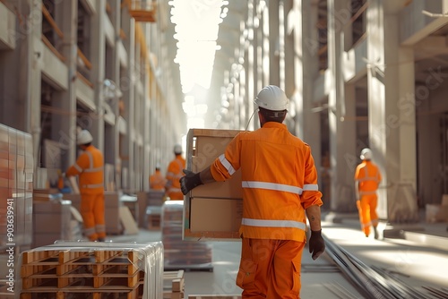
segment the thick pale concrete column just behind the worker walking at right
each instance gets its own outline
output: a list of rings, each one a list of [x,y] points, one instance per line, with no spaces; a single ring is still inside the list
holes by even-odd
[[[367,23],[367,82],[369,143],[383,172],[378,212],[392,223],[414,221],[418,215],[413,196],[417,182],[413,52],[400,47],[398,15],[385,11],[383,1],[371,2],[367,19],[377,20]],[[404,108],[406,103],[413,107]]]

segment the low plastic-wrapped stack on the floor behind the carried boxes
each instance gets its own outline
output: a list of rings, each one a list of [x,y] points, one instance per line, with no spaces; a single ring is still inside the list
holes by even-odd
[[[162,242],[165,270],[212,270],[211,245],[205,242],[185,241],[183,232],[184,201],[165,201],[162,206]]]

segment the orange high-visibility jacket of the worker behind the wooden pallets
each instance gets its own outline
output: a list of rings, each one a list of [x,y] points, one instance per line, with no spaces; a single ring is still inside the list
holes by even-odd
[[[101,151],[93,145],[82,152],[76,163],[68,168],[65,174],[80,176],[81,193],[104,192],[104,158]]]

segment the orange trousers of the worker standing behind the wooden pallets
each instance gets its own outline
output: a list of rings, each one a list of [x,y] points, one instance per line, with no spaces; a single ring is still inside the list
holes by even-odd
[[[104,193],[81,194],[81,215],[84,221],[84,234],[90,241],[106,237]]]

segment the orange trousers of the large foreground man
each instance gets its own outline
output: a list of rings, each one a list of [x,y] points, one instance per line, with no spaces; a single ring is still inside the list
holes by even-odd
[[[305,243],[289,240],[242,240],[237,286],[246,298],[294,298],[300,293]]]

